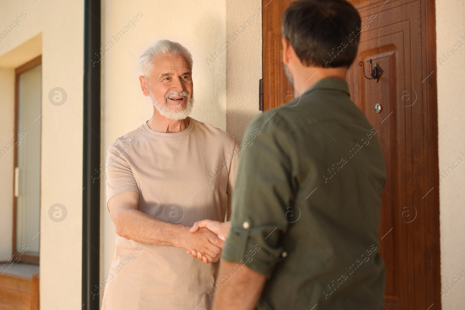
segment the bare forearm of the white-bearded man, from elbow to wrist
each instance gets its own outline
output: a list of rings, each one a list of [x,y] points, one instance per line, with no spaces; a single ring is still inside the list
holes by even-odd
[[[139,210],[120,211],[114,218],[116,234],[143,244],[184,247],[181,240],[189,234],[188,226],[160,221]]]

